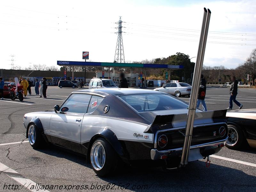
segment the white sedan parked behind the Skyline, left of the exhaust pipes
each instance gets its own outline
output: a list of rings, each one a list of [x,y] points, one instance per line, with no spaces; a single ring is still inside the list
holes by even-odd
[[[187,83],[167,83],[163,87],[154,89],[154,91],[169,93],[176,97],[189,96],[191,94],[191,85]]]

